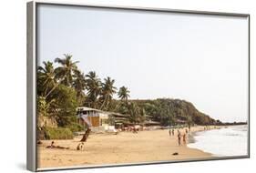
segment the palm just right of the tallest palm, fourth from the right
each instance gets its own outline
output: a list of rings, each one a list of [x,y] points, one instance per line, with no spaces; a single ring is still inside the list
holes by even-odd
[[[75,71],[75,80],[73,82],[73,87],[77,91],[78,104],[81,105],[82,98],[85,97],[84,90],[87,86],[87,81],[84,73],[81,73],[79,70]]]

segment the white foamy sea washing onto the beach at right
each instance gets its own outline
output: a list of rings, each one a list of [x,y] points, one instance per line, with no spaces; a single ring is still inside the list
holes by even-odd
[[[248,126],[229,126],[196,132],[188,144],[215,157],[245,156],[248,154]]]

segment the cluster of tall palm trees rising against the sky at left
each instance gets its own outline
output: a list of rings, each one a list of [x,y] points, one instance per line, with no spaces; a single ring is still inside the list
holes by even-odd
[[[126,86],[118,88],[115,80],[109,76],[103,81],[96,72],[90,71],[85,75],[77,68],[78,61],[72,61],[72,56],[65,54],[64,58],[56,58],[54,67],[52,62],[43,62],[37,70],[37,94],[47,100],[59,85],[74,88],[77,92],[79,106],[108,110],[115,94],[122,101],[127,101],[129,91]],[[117,91],[118,90],[118,91]]]

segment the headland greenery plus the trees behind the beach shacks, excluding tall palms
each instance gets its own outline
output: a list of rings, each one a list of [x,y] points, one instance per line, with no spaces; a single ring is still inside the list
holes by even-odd
[[[170,98],[159,98],[154,100],[115,100],[118,107],[116,112],[130,116],[130,122],[141,123],[146,119],[157,121],[161,126],[174,126],[186,124],[192,126],[221,124],[220,120],[201,113],[191,103]]]

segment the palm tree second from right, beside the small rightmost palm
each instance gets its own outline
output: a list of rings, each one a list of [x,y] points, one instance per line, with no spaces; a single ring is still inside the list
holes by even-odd
[[[111,79],[109,76],[104,78],[104,83],[102,83],[101,96],[99,97],[101,104],[100,109],[107,108],[108,104],[111,102],[113,95],[116,93],[117,87],[114,86],[115,80]]]

